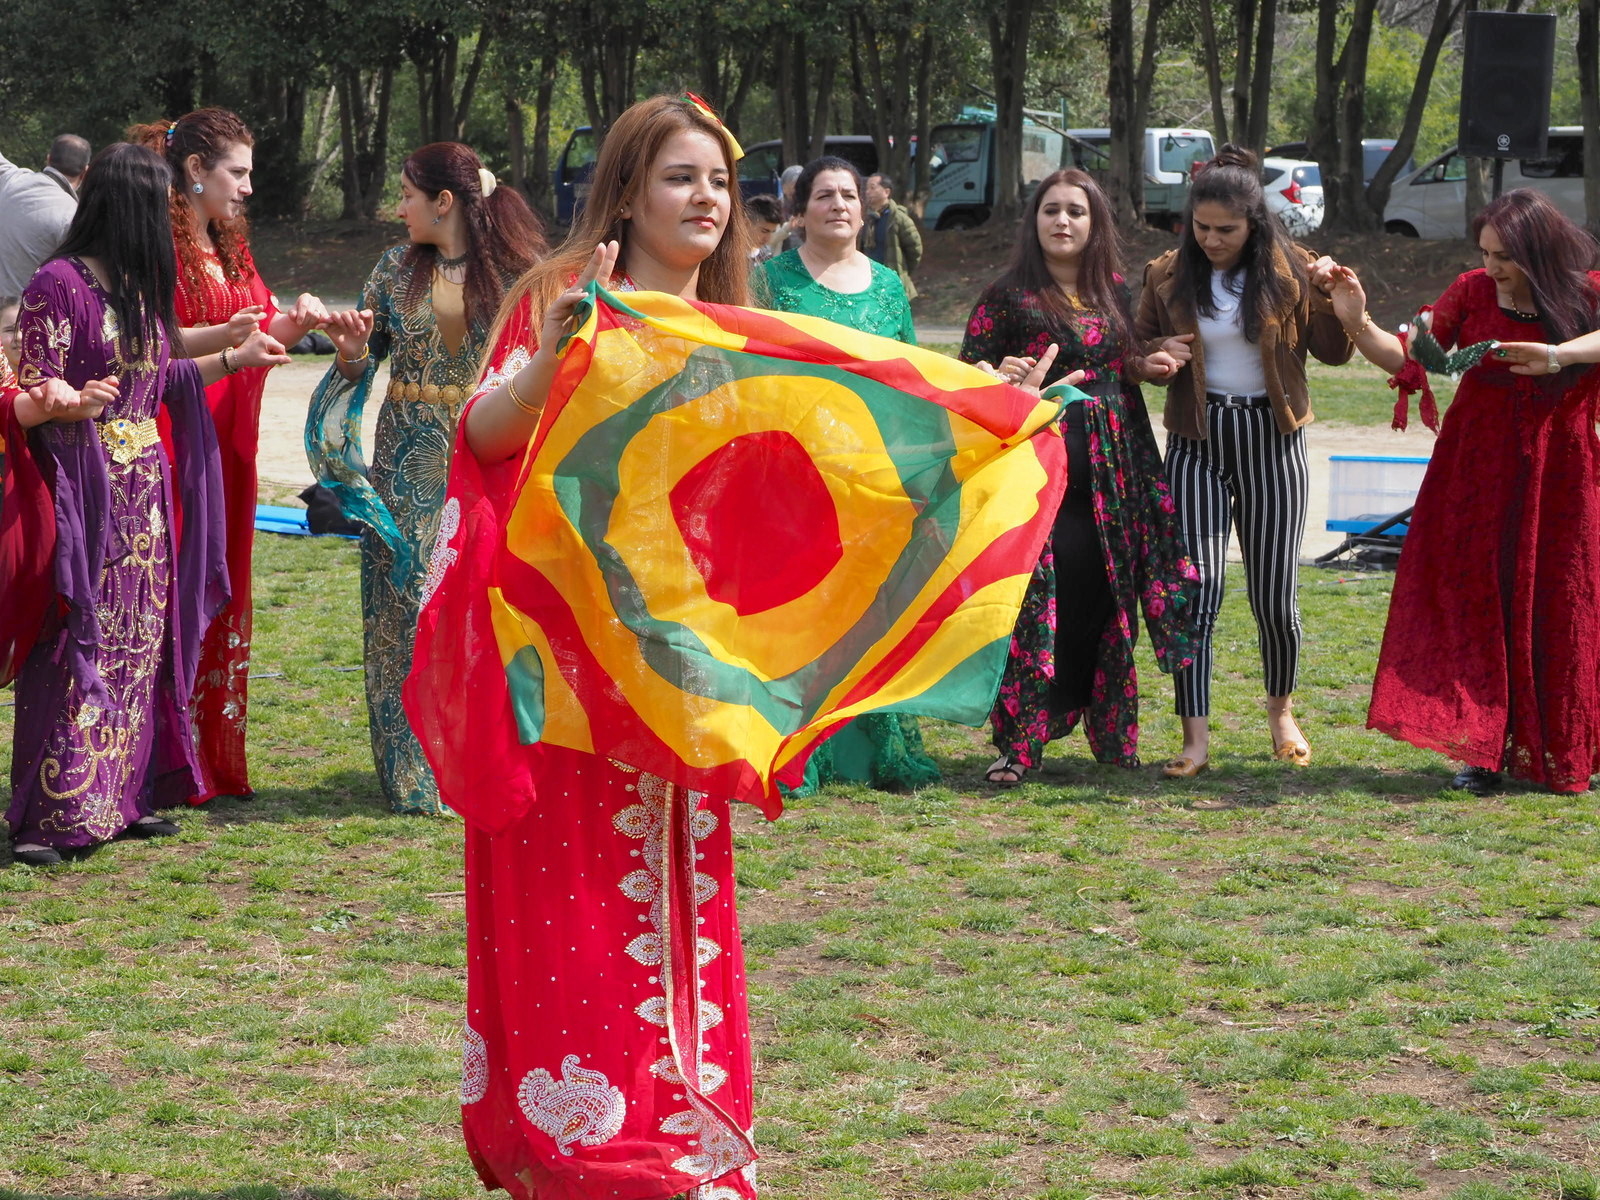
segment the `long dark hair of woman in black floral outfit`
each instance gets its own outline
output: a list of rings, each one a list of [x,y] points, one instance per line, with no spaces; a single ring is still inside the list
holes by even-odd
[[[1051,187],[1066,184],[1082,187],[1090,202],[1090,242],[1083,246],[1078,259],[1078,298],[1102,317],[1107,317],[1117,333],[1117,341],[1123,352],[1133,349],[1133,312],[1128,309],[1128,293],[1123,288],[1122,235],[1117,232],[1117,218],[1112,213],[1110,200],[1104,189],[1077,166],[1046,174],[1038,181],[1034,195],[1029,197],[1022,211],[1022,221],[1016,227],[1016,245],[1011,246],[1011,261],[1006,262],[1005,274],[1000,275],[1000,286],[1029,291],[1038,299],[1038,307],[1061,323],[1072,320],[1072,306],[1056,286],[1045,264],[1045,248],[1038,242],[1038,210],[1045,206],[1045,194]]]

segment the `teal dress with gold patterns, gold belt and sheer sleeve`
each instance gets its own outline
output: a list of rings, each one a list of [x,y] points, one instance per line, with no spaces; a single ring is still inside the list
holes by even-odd
[[[459,283],[437,272],[416,298],[406,291],[408,246],[384,251],[366,280],[362,307],[373,310],[371,357],[358,381],[338,365],[312,395],[306,456],[362,533],[362,616],[366,707],[373,762],[397,813],[443,813],[438,787],[400,707],[427,552],[438,538],[450,451],[461,405],[478,381],[488,323],[467,323]],[[386,403],[378,414],[368,466],[362,411],[378,365],[389,360]]]

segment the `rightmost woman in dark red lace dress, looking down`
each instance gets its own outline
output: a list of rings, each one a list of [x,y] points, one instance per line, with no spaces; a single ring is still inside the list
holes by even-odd
[[[1483,267],[1432,307],[1442,347],[1496,341],[1462,374],[1418,491],[1366,723],[1464,763],[1582,792],[1600,771],[1600,272],[1595,243],[1541,192],[1472,222]],[[1357,349],[1405,366],[1360,280],[1328,272]]]

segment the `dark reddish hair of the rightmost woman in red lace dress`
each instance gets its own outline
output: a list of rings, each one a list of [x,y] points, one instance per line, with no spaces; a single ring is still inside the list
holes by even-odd
[[[1595,240],[1550,198],[1531,187],[1515,187],[1491,200],[1472,218],[1472,240],[1493,226],[1528,286],[1552,342],[1565,342],[1595,326],[1600,296],[1589,280]]]

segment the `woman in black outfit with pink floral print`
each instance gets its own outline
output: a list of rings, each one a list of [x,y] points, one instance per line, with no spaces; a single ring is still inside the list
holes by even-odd
[[[1110,203],[1078,170],[1034,190],[1010,267],[973,307],[962,358],[998,363],[1016,381],[1051,346],[1059,350],[1043,381],[1078,371],[1083,398],[1061,422],[1067,493],[990,717],[1000,758],[987,778],[1002,787],[1019,784],[1080,718],[1096,760],[1138,765],[1141,606],[1162,669],[1190,662],[1198,576],[1139,392],[1146,379],[1176,374],[1189,346],[1134,352]]]

